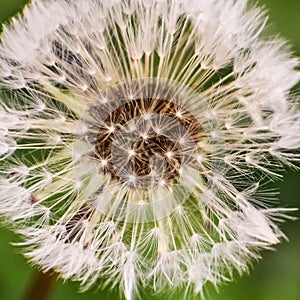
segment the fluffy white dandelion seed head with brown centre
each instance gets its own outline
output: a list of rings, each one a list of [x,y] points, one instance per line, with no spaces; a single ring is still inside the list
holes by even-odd
[[[128,300],[202,295],[285,237],[263,186],[300,160],[300,76],[266,20],[247,0],[47,0],[5,26],[0,215],[30,261]]]

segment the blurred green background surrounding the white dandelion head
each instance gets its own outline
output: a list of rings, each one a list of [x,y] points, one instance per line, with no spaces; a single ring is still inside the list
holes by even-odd
[[[80,0],[78,0],[80,1]],[[84,1],[84,0],[82,0]],[[0,23],[21,11],[25,0],[0,0]],[[293,44],[293,50],[300,56],[300,0],[260,0],[269,10],[271,32],[279,32]],[[280,205],[299,207],[300,174],[289,171],[279,188]],[[299,217],[299,213],[296,213]],[[235,282],[220,288],[220,293],[209,291],[211,300],[299,300],[300,299],[300,222],[288,222],[282,226],[290,242],[283,242],[276,251],[263,253],[263,260],[256,263],[250,275],[237,278]],[[19,300],[25,293],[35,273],[10,243],[18,240],[12,232],[0,228],[0,299]],[[91,290],[77,293],[78,284],[58,281],[52,291],[51,300],[103,299],[117,300],[118,294],[111,291]],[[151,297],[144,293],[143,299],[170,299]],[[172,299],[181,299],[174,294]],[[194,297],[191,299],[200,299]]]

